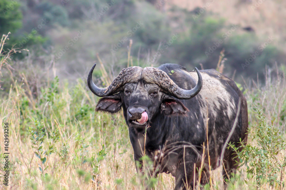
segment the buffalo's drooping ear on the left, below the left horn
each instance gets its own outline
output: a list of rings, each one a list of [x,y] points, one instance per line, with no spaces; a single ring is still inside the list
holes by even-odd
[[[118,95],[107,96],[99,99],[95,111],[106,111],[116,113],[120,111],[122,106],[121,99]]]

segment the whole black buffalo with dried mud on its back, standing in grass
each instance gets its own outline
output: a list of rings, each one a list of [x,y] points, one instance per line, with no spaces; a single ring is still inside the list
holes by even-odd
[[[211,169],[220,165],[224,152],[224,182],[235,172],[238,159],[225,146],[228,142],[240,146],[240,138],[247,142],[248,116],[246,99],[233,80],[213,69],[189,72],[177,64],[164,64],[125,68],[108,87],[99,88],[92,81],[95,66],[88,75],[88,87],[103,97],[96,111],[123,109],[134,160],[141,163],[138,172],[142,149],[154,162],[155,176],[170,172],[176,177],[175,189],[192,187],[194,175],[198,179],[194,164],[200,167],[202,162],[199,183],[208,183],[208,152]]]

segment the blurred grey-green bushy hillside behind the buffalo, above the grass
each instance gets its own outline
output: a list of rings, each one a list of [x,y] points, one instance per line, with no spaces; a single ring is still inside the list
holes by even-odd
[[[247,80],[258,75],[263,83],[265,66],[272,68],[275,62],[279,67],[285,66],[284,46],[279,40],[284,38],[284,34],[267,33],[265,26],[271,23],[264,23],[265,26],[257,26],[250,21],[249,25],[239,21],[231,23],[228,17],[213,11],[215,2],[202,4],[199,1],[200,7],[195,3],[184,5],[183,0],[178,2],[1,0],[0,35],[10,31],[11,39],[6,48],[12,45],[28,48],[33,60],[40,59],[45,66],[50,64],[46,60],[53,59],[59,78],[73,81],[72,76],[83,76],[92,63],[98,61],[97,54],[114,73],[126,67],[130,40],[134,65],[159,66],[171,62],[189,70],[200,65],[210,69],[216,68],[220,52],[225,50],[224,71],[229,77],[242,82],[241,76]],[[253,8],[257,6],[255,3],[237,3],[237,11],[243,7],[252,10],[249,15],[257,11]],[[259,4],[259,9],[263,9],[265,4]],[[228,11],[221,15],[225,13]],[[247,15],[241,13],[237,17],[245,18]],[[46,21],[44,24],[43,19]],[[142,24],[138,27],[137,23]],[[84,34],[71,43],[79,31]],[[172,39],[174,35],[178,36],[175,40]],[[268,38],[273,40],[267,43]],[[266,46],[263,45],[265,43]],[[242,66],[255,52],[259,55],[248,66]],[[25,56],[28,56],[27,52],[15,55],[17,59]]]

